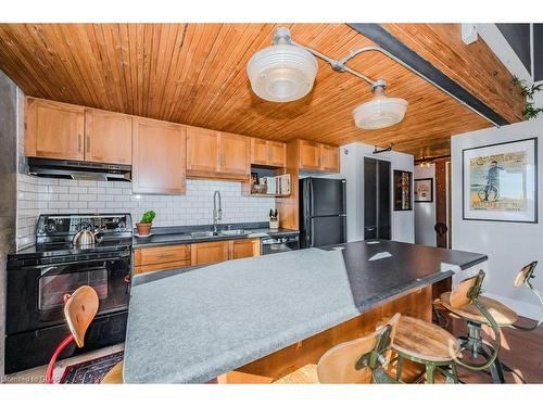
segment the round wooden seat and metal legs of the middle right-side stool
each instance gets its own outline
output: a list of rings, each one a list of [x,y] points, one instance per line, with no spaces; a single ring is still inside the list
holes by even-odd
[[[433,383],[435,371],[458,383],[455,358],[459,343],[451,333],[421,319],[402,316],[392,342],[396,353],[396,380],[401,381],[404,359],[425,365],[426,383]],[[445,369],[447,368],[447,369]]]

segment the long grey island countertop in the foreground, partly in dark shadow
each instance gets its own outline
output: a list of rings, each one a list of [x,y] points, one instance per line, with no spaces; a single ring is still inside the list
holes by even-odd
[[[485,255],[366,241],[136,276],[127,383],[202,383]]]

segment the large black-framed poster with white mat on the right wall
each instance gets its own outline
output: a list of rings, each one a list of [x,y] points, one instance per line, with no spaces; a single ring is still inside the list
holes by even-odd
[[[463,218],[538,222],[538,139],[462,151]]]

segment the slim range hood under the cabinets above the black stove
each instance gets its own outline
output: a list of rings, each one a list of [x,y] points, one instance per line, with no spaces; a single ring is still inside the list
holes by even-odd
[[[131,179],[131,166],[123,164],[29,157],[28,167],[29,175],[47,178],[127,182]]]

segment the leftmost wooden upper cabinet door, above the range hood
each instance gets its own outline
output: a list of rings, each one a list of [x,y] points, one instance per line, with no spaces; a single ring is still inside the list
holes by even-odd
[[[85,107],[27,98],[25,120],[25,155],[85,160]]]

